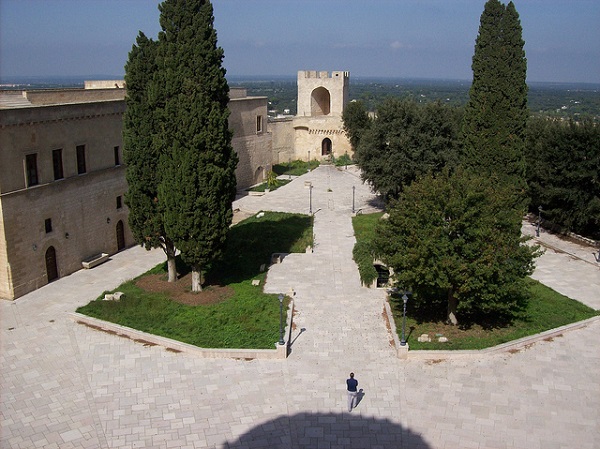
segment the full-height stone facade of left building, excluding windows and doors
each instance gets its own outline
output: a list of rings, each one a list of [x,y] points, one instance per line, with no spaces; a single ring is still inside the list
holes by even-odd
[[[134,243],[121,165],[124,109],[121,100],[0,111],[0,297],[13,299],[45,285],[50,247],[61,277],[94,254],[115,253],[119,221],[125,245]],[[77,170],[78,145],[85,146],[83,174]],[[62,179],[54,174],[57,149]],[[27,186],[28,154],[36,155],[37,185]]]

